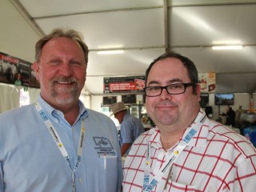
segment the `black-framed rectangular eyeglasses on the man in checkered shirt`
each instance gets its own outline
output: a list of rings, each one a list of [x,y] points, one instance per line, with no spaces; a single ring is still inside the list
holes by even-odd
[[[195,84],[193,82],[188,82],[174,83],[168,86],[147,86],[144,88],[144,93],[148,97],[156,97],[162,94],[162,90],[165,89],[168,94],[183,94],[188,86],[195,86]]]

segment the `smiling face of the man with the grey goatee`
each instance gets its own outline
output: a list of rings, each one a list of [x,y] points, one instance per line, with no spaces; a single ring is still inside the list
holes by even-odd
[[[85,54],[77,42],[64,37],[51,39],[33,67],[46,102],[57,109],[77,104],[86,81]]]

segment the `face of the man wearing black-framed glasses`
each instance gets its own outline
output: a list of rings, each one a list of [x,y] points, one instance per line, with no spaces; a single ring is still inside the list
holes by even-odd
[[[177,58],[165,58],[154,63],[147,78],[146,86],[167,86],[172,83],[191,82],[188,71]],[[168,94],[162,90],[157,97],[146,97],[146,110],[156,126],[187,127],[198,114],[200,89],[193,94],[192,86],[188,86],[183,94]]]

